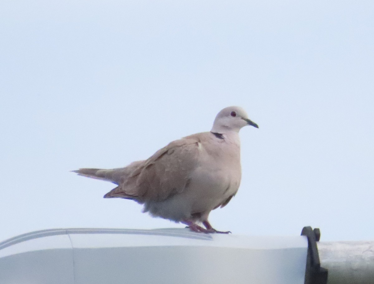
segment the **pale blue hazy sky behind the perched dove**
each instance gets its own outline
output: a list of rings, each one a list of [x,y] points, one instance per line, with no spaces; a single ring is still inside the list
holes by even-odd
[[[3,0],[0,37],[0,240],[183,227],[69,171],[148,158],[231,105],[260,128],[214,227],[374,239],[373,1]]]

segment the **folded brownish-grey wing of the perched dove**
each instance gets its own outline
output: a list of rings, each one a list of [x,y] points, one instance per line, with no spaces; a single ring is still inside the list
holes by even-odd
[[[132,198],[140,203],[161,201],[182,192],[191,172],[199,165],[199,134],[169,143],[138,166],[113,194],[107,197]]]

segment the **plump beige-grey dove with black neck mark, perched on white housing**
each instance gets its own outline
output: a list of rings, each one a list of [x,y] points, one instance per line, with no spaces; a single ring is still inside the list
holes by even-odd
[[[193,232],[230,233],[214,229],[208,217],[239,189],[239,130],[246,125],[258,128],[241,107],[226,107],[215,117],[211,131],[172,141],[147,160],[124,168],[73,172],[116,184],[104,198],[134,200],[143,204],[143,212],[183,223]]]

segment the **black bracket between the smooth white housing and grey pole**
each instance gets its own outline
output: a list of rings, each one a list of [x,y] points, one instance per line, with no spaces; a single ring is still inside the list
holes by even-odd
[[[308,254],[304,284],[327,284],[328,271],[321,267],[317,248],[317,242],[321,237],[320,230],[318,228],[313,230],[310,226],[303,227],[301,235],[308,238]]]

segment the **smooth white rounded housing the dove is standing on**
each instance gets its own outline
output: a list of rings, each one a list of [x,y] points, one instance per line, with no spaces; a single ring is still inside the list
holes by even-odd
[[[55,229],[0,242],[0,283],[304,283],[305,236]]]

